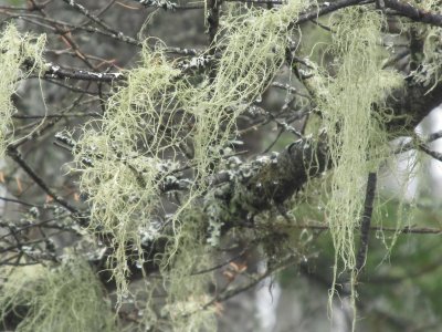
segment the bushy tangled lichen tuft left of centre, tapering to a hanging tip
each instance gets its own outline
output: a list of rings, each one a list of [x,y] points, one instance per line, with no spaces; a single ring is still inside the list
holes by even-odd
[[[109,266],[119,297],[127,293],[127,246],[140,249],[159,205],[159,184],[176,167],[175,149],[186,125],[177,120],[178,91],[185,89],[175,80],[178,73],[161,53],[145,48],[140,66],[127,72],[127,85],[108,100],[106,115],[86,124],[77,142],[90,227],[112,236]]]

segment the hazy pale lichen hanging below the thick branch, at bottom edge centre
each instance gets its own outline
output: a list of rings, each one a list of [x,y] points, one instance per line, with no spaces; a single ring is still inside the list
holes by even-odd
[[[213,331],[215,330],[215,309],[211,304],[209,287],[214,283],[210,269],[210,246],[206,240],[198,209],[185,211],[178,238],[178,250],[175,246],[166,251],[167,264],[161,268],[164,289],[167,293],[166,305],[161,314],[168,318],[172,331]],[[170,260],[169,257],[172,257]]]

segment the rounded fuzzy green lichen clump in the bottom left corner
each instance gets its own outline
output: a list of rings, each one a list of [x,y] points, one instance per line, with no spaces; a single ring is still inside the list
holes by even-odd
[[[82,260],[56,268],[15,268],[0,289],[0,317],[20,319],[17,331],[116,331],[95,274]]]

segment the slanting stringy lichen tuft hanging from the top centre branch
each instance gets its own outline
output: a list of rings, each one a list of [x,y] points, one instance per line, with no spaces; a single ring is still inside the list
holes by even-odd
[[[189,110],[196,115],[194,153],[204,169],[218,155],[208,158],[215,142],[222,146],[231,135],[238,116],[270,84],[283,63],[287,48],[287,28],[307,1],[292,0],[275,10],[248,10],[222,22],[218,48],[223,50],[214,80],[199,90]]]

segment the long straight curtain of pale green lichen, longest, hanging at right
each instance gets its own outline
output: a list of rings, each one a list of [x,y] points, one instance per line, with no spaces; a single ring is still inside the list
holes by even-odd
[[[369,170],[387,158],[387,133],[381,123],[382,101],[400,86],[402,79],[382,70],[381,19],[378,13],[348,9],[332,18],[337,74],[318,93],[334,174],[326,215],[335,246],[335,281],[343,270],[352,271],[355,281],[355,227],[362,208]],[[376,103],[377,110],[373,110]],[[379,108],[379,110],[378,110]],[[351,301],[355,308],[355,297]],[[330,294],[330,300],[333,294]]]

